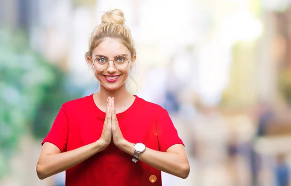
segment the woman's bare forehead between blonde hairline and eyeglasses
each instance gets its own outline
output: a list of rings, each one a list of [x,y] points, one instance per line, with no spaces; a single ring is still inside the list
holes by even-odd
[[[93,56],[96,54],[112,57],[120,54],[130,54],[129,49],[117,38],[105,38],[94,50]]]

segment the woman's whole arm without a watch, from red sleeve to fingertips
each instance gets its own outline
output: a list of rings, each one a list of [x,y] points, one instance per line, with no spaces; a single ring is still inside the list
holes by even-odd
[[[50,134],[47,136],[50,140],[58,143],[59,146],[49,143],[50,140],[44,143],[36,165],[36,172],[39,179],[45,179],[66,169],[70,169],[97,152],[103,151],[110,144],[112,138],[112,109],[109,109],[111,102],[109,99],[107,101],[106,119],[100,138],[91,144],[68,152],[64,152],[67,140],[67,125],[64,123],[67,118],[66,115],[64,115],[65,112],[61,110],[62,112],[57,116]],[[62,133],[63,131],[66,131],[66,133]],[[59,140],[56,140],[56,138]],[[61,151],[62,148],[63,150]]]

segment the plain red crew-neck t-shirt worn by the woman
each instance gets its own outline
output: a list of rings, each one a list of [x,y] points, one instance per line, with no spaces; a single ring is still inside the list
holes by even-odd
[[[174,144],[183,144],[165,109],[135,97],[128,110],[116,114],[126,140],[162,152]],[[104,120],[105,113],[96,106],[93,94],[68,101],[62,105],[42,144],[50,142],[61,152],[90,144],[100,138]],[[131,155],[111,143],[104,151],[67,169],[66,186],[162,186],[160,170],[131,159]],[[149,181],[151,175],[157,177],[155,183]]]

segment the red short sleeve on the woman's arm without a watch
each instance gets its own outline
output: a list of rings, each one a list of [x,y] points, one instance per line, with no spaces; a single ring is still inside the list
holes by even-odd
[[[61,152],[65,152],[67,136],[68,136],[67,110],[63,105],[52,124],[49,134],[45,137],[41,144],[43,145],[45,142],[49,142],[57,146],[61,150]]]

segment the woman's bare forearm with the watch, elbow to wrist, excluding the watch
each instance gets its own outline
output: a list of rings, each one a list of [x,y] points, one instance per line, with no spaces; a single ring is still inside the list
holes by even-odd
[[[120,149],[133,156],[133,143],[125,141]],[[187,178],[189,174],[189,162],[182,162],[180,154],[173,152],[160,152],[149,148],[141,153],[140,161],[159,169],[163,172],[178,176],[180,178]]]

